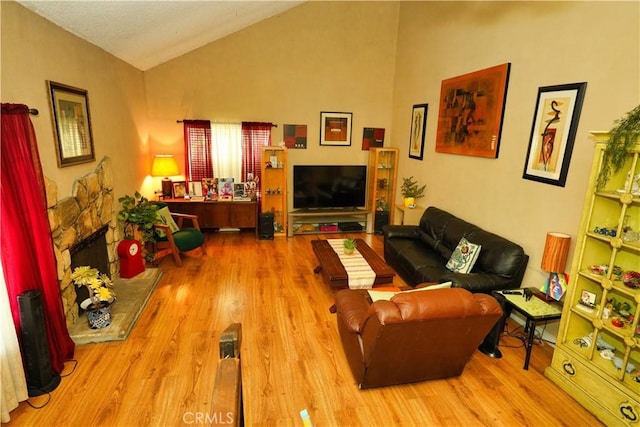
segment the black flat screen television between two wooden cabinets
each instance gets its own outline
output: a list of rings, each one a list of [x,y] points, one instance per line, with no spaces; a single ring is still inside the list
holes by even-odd
[[[294,209],[361,208],[366,205],[364,165],[294,165]]]

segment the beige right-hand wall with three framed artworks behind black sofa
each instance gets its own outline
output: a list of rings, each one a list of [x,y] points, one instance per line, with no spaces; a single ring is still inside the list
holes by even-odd
[[[427,184],[435,205],[521,244],[524,285],[540,286],[545,235],[574,237],[594,153],[607,130],[640,103],[638,2],[403,2],[392,141],[400,176]],[[511,63],[498,159],[435,152],[443,79]],[[538,88],[588,82],[565,187],[522,179]],[[424,160],[408,157],[411,106],[428,103]],[[571,265],[571,256],[567,270]]]

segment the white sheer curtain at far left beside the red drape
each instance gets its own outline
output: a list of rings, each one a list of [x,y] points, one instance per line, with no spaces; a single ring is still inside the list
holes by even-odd
[[[18,406],[18,402],[27,400],[28,397],[18,337],[0,264],[0,421],[8,423],[9,412]]]

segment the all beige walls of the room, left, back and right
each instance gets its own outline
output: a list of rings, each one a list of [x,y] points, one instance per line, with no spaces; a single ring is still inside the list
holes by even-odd
[[[18,4],[1,7],[2,101],[40,109],[33,122],[43,167],[61,192],[95,163],[57,167],[47,79],[89,91],[96,156],[113,158],[117,194],[158,186],[147,177],[147,150],[182,157],[177,119],[271,121],[274,143],[283,123],[307,124],[309,148],[290,150],[290,165],[364,163],[362,128],[383,127],[386,144],[401,150],[399,176],[427,184],[423,203],[524,246],[526,285],[545,277],[545,233],[577,233],[588,131],[609,128],[640,102],[638,2],[308,2],[145,73]],[[441,81],[505,62],[499,158],[435,153]],[[582,81],[566,186],[523,180],[538,88]],[[430,106],[422,161],[407,153],[418,103]],[[318,145],[320,111],[353,112],[351,147]]]

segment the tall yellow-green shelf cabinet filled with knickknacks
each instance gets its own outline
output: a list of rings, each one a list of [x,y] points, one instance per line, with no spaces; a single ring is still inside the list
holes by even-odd
[[[621,279],[621,272],[640,271],[640,241],[633,234],[640,231],[640,190],[633,189],[640,142],[623,169],[597,189],[607,134],[594,135],[557,348],[545,374],[605,424],[640,426],[640,289]]]

